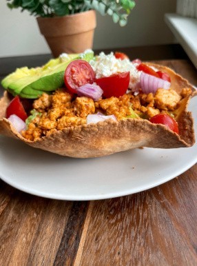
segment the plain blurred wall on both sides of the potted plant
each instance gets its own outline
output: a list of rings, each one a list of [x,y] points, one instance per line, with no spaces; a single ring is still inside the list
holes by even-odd
[[[176,0],[136,0],[136,7],[121,28],[112,17],[97,13],[94,49],[135,47],[174,43],[175,38],[164,20],[165,13],[176,12]],[[0,57],[49,54],[37,21],[28,12],[10,10],[0,1]]]

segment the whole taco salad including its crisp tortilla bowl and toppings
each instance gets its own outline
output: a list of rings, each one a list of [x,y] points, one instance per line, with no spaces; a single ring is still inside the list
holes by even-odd
[[[43,150],[79,157],[142,145],[194,144],[187,104],[196,92],[185,79],[160,65],[129,61],[120,52],[92,54],[90,50],[69,58],[63,54],[33,74],[23,68],[7,76],[2,81],[8,94],[0,102],[1,116],[6,116],[0,121],[0,133]],[[21,71],[25,72],[22,77]],[[163,134],[160,141],[154,141],[159,134]]]

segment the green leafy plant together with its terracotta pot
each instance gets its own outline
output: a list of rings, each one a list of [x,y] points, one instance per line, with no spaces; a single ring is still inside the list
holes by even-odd
[[[132,0],[7,0],[8,7],[28,10],[37,17],[54,57],[62,52],[79,53],[92,48],[96,13],[112,16],[114,23],[126,25],[135,6]]]

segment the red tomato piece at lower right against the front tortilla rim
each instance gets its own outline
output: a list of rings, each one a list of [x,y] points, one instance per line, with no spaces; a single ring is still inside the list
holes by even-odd
[[[178,123],[168,114],[156,114],[156,116],[153,116],[149,121],[155,124],[163,124],[168,127],[169,130],[178,134]]]

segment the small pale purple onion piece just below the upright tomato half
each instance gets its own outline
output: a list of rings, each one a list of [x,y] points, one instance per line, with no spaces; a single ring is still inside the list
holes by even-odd
[[[87,83],[77,89],[77,94],[79,96],[87,96],[92,98],[94,101],[98,101],[103,94],[103,90],[98,85]]]

